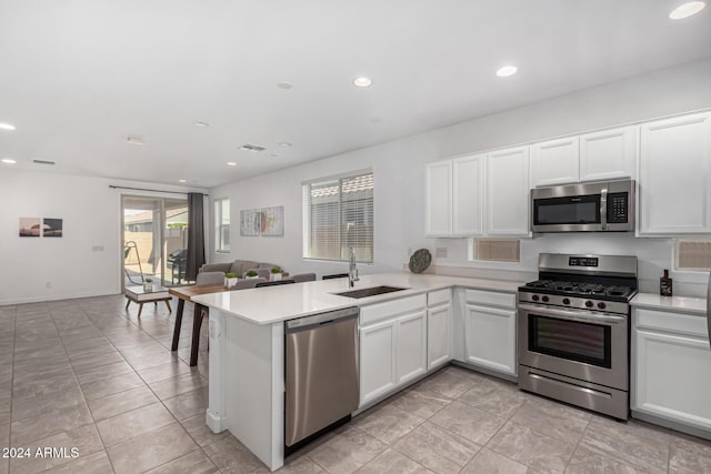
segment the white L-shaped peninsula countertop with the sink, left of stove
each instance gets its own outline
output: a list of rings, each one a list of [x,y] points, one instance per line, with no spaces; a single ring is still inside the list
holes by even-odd
[[[523,284],[524,282],[468,279],[462,276],[382,273],[361,275],[360,281],[356,282],[353,289],[348,288],[348,279],[343,278],[264,286],[253,290],[210,293],[193,296],[192,300],[254,324],[271,324],[324,311],[348,306],[363,306],[452,286],[515,293],[518,288]],[[380,285],[405,288],[407,290],[361,299],[333,294]]]

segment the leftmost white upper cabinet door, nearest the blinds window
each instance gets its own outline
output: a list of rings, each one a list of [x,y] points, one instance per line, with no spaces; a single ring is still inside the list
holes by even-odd
[[[437,161],[424,168],[424,234],[452,234],[452,161]]]

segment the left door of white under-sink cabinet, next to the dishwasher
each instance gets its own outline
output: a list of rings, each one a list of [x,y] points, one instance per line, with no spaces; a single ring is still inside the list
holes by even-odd
[[[360,330],[360,404],[388,393],[397,384],[395,321]]]

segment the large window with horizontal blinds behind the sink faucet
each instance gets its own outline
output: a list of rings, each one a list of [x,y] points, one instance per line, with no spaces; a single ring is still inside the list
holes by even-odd
[[[373,262],[373,173],[303,183],[303,258]]]

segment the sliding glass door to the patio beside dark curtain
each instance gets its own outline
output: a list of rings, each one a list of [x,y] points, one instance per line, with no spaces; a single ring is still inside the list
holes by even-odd
[[[123,285],[146,279],[162,286],[186,280],[188,200],[123,195]]]

